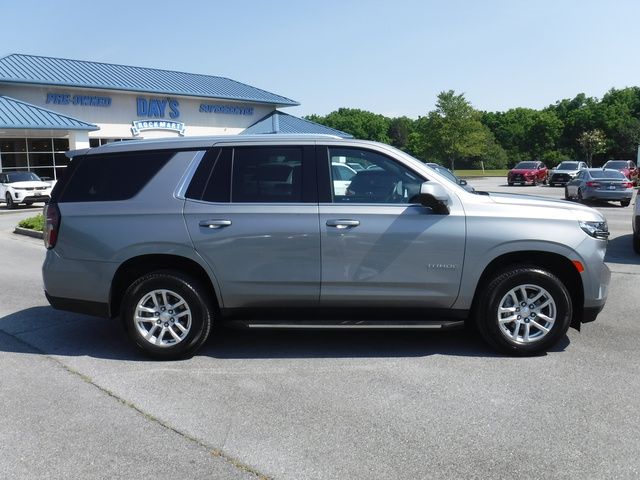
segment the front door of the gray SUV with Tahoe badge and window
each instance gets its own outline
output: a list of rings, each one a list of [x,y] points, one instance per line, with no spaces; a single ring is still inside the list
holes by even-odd
[[[329,166],[345,158],[369,168],[341,194]],[[373,150],[318,146],[318,165],[321,305],[450,307],[465,249],[459,200],[449,215],[412,203],[424,177]]]

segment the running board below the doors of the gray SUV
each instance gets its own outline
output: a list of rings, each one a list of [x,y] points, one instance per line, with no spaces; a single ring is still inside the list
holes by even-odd
[[[370,330],[448,330],[464,326],[464,320],[416,320],[409,322],[399,321],[340,321],[340,322],[273,322],[273,321],[235,321],[236,325],[246,328],[286,328],[286,329],[370,329]]]

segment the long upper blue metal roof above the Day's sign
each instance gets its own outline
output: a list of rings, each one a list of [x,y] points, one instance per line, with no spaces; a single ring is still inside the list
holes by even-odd
[[[0,83],[27,83],[218,98],[275,106],[295,100],[229,78],[155,68],[13,54],[0,58]]]

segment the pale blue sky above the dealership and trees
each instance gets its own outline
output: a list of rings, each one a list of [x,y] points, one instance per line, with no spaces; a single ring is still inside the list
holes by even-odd
[[[480,110],[640,86],[638,0],[265,2],[0,0],[0,56],[228,77],[296,100],[426,115],[444,90]]]

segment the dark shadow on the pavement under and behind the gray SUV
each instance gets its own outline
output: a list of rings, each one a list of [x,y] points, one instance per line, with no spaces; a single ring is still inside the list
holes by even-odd
[[[32,307],[0,318],[0,351],[13,351],[2,333],[31,347],[33,353],[89,356],[107,360],[153,361],[128,340],[118,320]],[[551,351],[563,351],[565,337]],[[21,350],[22,352],[24,349]],[[214,327],[196,356],[219,359],[385,358],[451,355],[500,357],[472,330],[355,331],[248,330]]]

